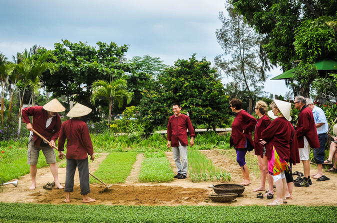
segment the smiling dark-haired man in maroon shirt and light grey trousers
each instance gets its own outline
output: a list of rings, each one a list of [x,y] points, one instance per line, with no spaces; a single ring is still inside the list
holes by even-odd
[[[174,178],[184,179],[187,175],[187,133],[190,135],[190,146],[194,145],[194,129],[189,117],[181,114],[180,104],[173,103],[172,110],[174,115],[168,118],[167,123],[167,147],[172,146],[173,158],[178,170]],[[180,161],[181,156],[181,161]]]

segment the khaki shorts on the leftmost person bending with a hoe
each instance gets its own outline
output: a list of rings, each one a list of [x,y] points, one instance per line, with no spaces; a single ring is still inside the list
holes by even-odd
[[[41,146],[40,148],[37,148],[34,145],[34,140],[31,136],[29,136],[28,139],[28,150],[27,150],[27,163],[29,165],[36,165],[38,160],[38,155],[40,153],[40,150],[42,149],[42,152],[45,157],[46,163],[55,163],[56,162],[56,156],[55,151],[53,148],[48,146]]]

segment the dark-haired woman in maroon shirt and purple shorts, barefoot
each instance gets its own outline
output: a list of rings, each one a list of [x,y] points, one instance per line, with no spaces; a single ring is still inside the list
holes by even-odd
[[[251,132],[255,128],[256,119],[247,111],[241,109],[241,106],[242,101],[240,99],[233,98],[230,100],[231,111],[235,112],[235,118],[231,124],[230,147],[234,146],[235,148],[236,161],[243,174],[241,185],[249,185],[249,171],[244,156],[247,151],[254,148]]]

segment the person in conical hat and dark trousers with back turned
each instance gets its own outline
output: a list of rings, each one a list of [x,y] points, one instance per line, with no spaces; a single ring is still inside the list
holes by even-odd
[[[73,191],[73,177],[76,167],[79,173],[80,193],[82,194],[82,202],[88,203],[95,201],[88,196],[89,187],[89,167],[88,157],[93,161],[95,156],[93,153],[92,142],[86,123],[80,120],[80,117],[91,112],[91,108],[76,103],[66,114],[72,117],[62,123],[58,139],[58,157],[62,158],[64,151],[64,142],[66,142],[66,174],[65,174],[65,202],[70,202],[70,192]]]

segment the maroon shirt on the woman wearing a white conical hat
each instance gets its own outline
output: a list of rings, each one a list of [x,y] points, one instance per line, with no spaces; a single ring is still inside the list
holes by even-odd
[[[275,118],[264,131],[261,137],[267,142],[267,159],[271,159],[272,147],[275,146],[277,154],[285,161],[293,164],[299,162],[298,146],[295,129],[284,117]]]

